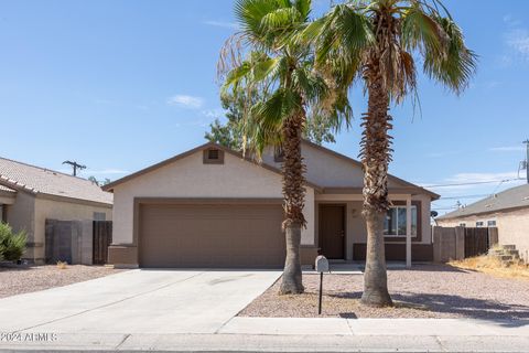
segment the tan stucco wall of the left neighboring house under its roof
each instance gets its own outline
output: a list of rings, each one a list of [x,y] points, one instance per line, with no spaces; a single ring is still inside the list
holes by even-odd
[[[56,200],[46,200],[36,197],[34,207],[34,242],[36,244],[45,243],[46,220],[57,221],[85,221],[94,220],[94,212],[106,214],[106,220],[112,220],[111,206],[95,206],[77,204]],[[28,257],[28,256],[25,256]],[[43,260],[45,257],[44,246],[34,248],[33,259]]]

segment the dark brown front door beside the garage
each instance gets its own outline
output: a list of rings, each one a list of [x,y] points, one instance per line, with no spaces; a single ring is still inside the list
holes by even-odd
[[[344,258],[345,206],[320,205],[321,254],[331,259]]]

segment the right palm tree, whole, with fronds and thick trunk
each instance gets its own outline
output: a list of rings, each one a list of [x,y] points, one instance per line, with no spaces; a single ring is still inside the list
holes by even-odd
[[[369,0],[337,4],[304,30],[316,44],[320,69],[349,87],[357,78],[368,95],[363,115],[360,158],[364,169],[363,214],[367,255],[361,301],[391,306],[387,287],[384,218],[391,161],[390,104],[417,95],[413,55],[423,72],[460,94],[475,72],[476,55],[466,47],[461,29],[439,0]]]

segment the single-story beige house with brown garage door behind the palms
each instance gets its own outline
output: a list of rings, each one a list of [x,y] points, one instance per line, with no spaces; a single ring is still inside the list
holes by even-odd
[[[302,263],[321,254],[363,260],[361,164],[304,141],[306,197]],[[149,167],[104,190],[114,192],[114,244],[109,263],[126,267],[280,267],[280,151],[262,163],[216,143],[206,143]],[[413,260],[431,260],[430,203],[439,195],[389,176],[391,208],[386,255],[404,260],[407,229]],[[407,207],[411,223],[407,224]]]

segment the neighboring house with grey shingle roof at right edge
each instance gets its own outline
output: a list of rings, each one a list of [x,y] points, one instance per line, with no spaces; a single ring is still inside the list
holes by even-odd
[[[499,244],[516,245],[529,261],[529,184],[494,194],[435,221],[446,227],[497,227]]]

